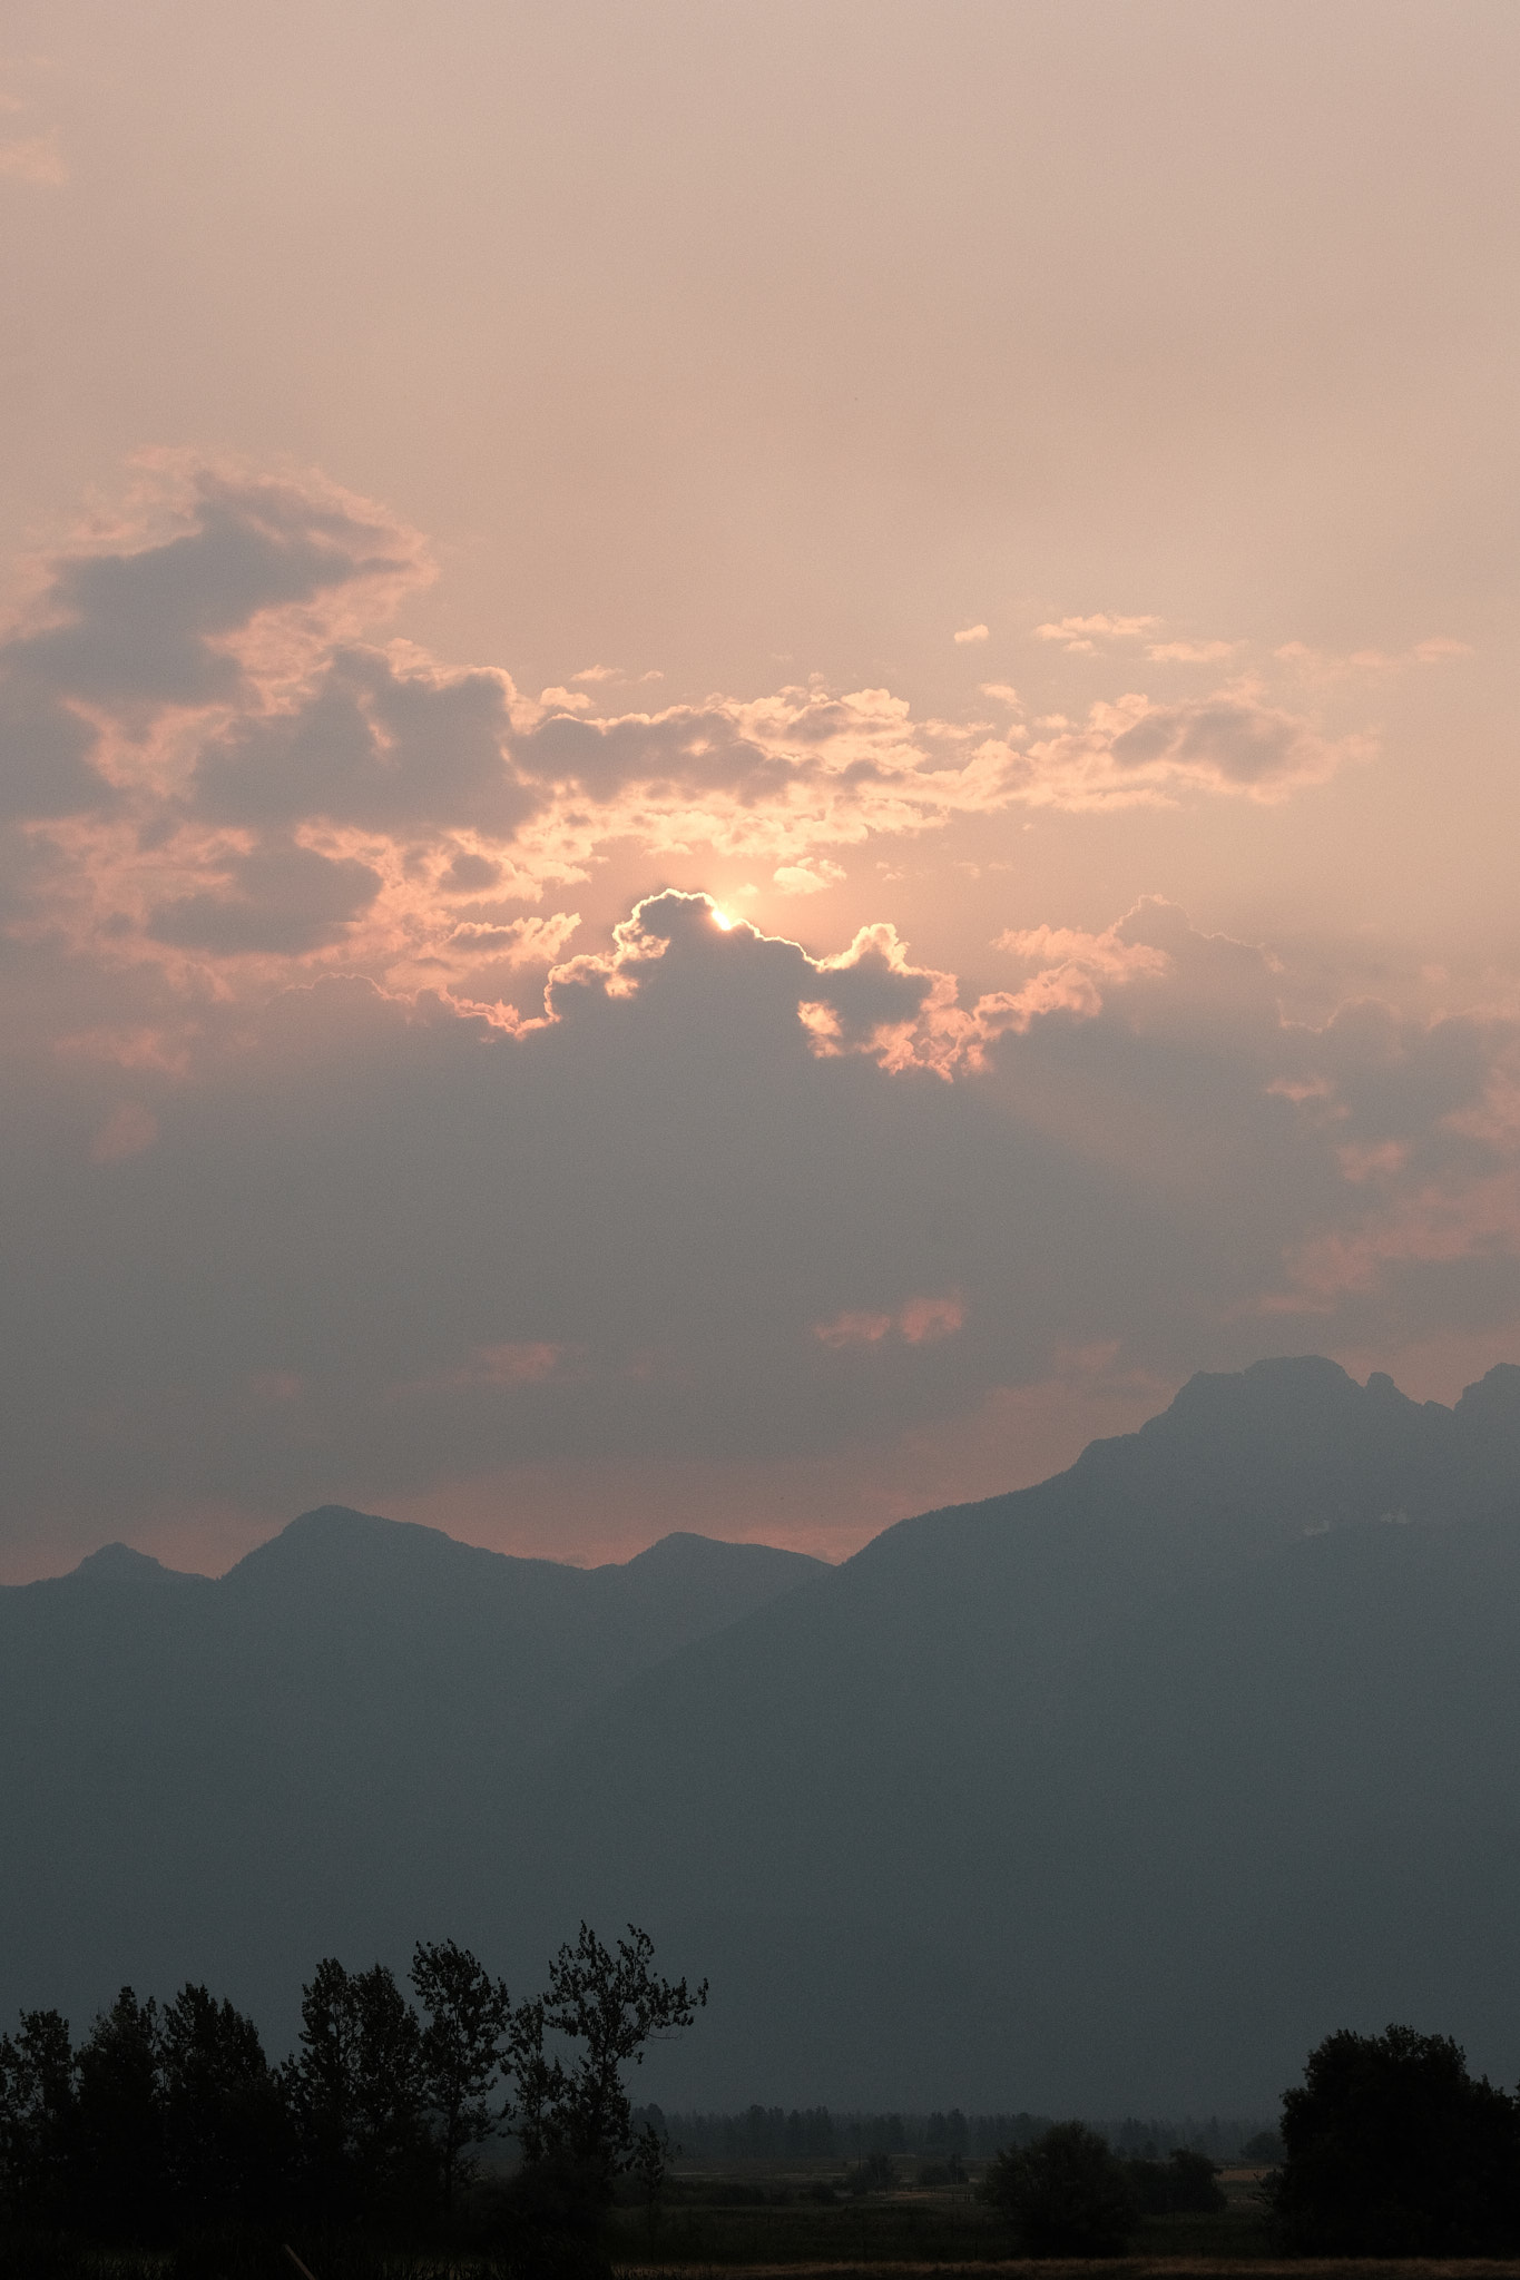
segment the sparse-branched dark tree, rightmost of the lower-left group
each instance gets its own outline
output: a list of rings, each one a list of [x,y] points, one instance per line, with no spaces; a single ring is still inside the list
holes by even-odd
[[[549,1965],[545,1993],[510,2016],[515,2098],[506,2120],[524,2168],[574,2171],[606,2198],[613,2177],[638,2157],[645,2187],[654,2189],[659,2155],[636,2141],[622,2070],[643,2066],[647,2045],[690,2027],[704,2004],[706,1979],[688,1988],[684,1979],[659,1977],[647,1931],[629,1924],[613,1954],[590,1924],[581,1924],[579,1940],[561,1947]],[[547,2034],[574,2057],[549,2054]]]

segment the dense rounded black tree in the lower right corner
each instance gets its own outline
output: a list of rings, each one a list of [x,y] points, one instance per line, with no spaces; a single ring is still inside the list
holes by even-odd
[[[1458,2043],[1413,2027],[1331,2034],[1283,2095],[1272,2187],[1288,2248],[1452,2257],[1520,2248],[1520,2109]]]

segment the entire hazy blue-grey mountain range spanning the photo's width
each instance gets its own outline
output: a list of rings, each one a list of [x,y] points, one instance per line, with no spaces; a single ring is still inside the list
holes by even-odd
[[[713,2000],[668,2104],[1265,2111],[1408,2018],[1520,2075],[1520,1368],[1199,1375],[825,1566],[340,1507],[0,1591],[0,2009],[581,1915]]]

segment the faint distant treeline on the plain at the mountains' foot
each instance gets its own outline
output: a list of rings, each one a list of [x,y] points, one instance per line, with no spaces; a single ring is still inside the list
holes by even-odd
[[[873,2155],[916,2155],[923,2161],[991,2159],[1007,2145],[1032,2145],[1053,2125],[1051,2114],[832,2114],[830,2107],[745,2107],[743,2114],[663,2114],[640,2107],[640,2120],[665,2132],[684,2152],[704,2161],[866,2161]],[[1267,2145],[1260,2120],[1096,2120],[1114,2152],[1155,2161],[1183,2148],[1210,2161],[1233,2161],[1251,2141]]]

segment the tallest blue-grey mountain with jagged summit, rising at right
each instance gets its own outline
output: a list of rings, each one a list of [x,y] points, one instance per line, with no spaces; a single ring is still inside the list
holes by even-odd
[[[640,1674],[536,1826],[702,1954],[713,2098],[1251,2111],[1349,2013],[1520,2073],[1515,1762],[1520,1370],[1301,1359]]]

